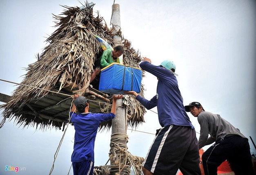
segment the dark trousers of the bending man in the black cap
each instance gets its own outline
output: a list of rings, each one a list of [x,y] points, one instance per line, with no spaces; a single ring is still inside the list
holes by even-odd
[[[205,175],[217,175],[217,168],[227,160],[236,175],[254,175],[249,142],[240,136],[216,140],[202,155]],[[248,172],[248,173],[247,173]]]

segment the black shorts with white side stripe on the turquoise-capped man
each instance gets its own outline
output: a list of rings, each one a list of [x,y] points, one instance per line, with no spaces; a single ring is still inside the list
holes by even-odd
[[[161,128],[142,166],[154,175],[200,175],[199,150],[195,129],[169,125]]]

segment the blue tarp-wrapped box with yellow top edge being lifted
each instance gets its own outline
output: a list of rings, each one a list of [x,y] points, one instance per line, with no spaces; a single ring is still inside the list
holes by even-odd
[[[123,91],[140,92],[140,68],[112,63],[101,70],[99,90],[107,94],[124,94]]]

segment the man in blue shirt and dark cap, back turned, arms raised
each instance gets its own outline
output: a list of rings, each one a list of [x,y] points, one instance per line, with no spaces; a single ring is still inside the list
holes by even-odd
[[[71,122],[75,127],[74,151],[71,155],[74,175],[93,175],[94,142],[99,124],[112,120],[116,114],[116,100],[122,95],[113,95],[111,112],[109,114],[90,113],[89,104],[84,96],[74,95],[71,108]],[[78,111],[79,114],[76,114]]]

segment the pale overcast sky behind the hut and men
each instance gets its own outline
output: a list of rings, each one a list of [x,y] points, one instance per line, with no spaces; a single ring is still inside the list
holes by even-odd
[[[80,1],[84,2],[84,1]],[[36,61],[54,28],[52,13],[60,5],[80,7],[78,0],[0,1],[0,79],[20,83],[24,68]],[[93,0],[110,24],[113,0]],[[142,56],[159,64],[170,59],[176,64],[178,85],[184,105],[200,102],[208,112],[220,114],[256,142],[256,1],[255,0],[116,0],[120,4],[122,34]],[[110,25],[109,25],[110,27]],[[157,79],[146,73],[142,80],[145,97],[156,94]],[[0,81],[0,93],[12,95],[16,85]],[[0,104],[3,104],[0,102]],[[152,109],[157,112],[157,109]],[[188,114],[196,132],[197,118]],[[0,117],[2,120],[2,116]],[[147,111],[146,123],[127,131],[128,151],[145,157],[160,128],[157,114]],[[14,120],[0,129],[0,174],[5,166],[20,167],[20,175],[49,174],[53,156],[64,132],[35,127],[18,127]],[[150,134],[153,133],[153,134]],[[111,131],[98,133],[95,166],[108,160]],[[56,159],[53,175],[67,174],[71,166],[74,129],[70,125]],[[197,134],[199,138],[199,134]],[[249,139],[251,152],[256,150]],[[204,147],[203,149],[207,149]],[[109,163],[110,164],[110,163]],[[26,170],[24,170],[26,168]],[[71,173],[73,171],[71,169]]]

